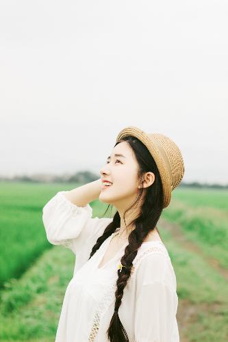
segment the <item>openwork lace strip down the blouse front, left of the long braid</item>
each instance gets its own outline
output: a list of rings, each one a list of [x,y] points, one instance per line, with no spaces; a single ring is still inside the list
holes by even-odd
[[[89,342],[95,341],[97,336],[97,332],[99,330],[99,322],[101,319],[101,314],[105,311],[105,309],[112,304],[112,301],[115,300],[114,290],[116,289],[116,283],[110,285],[109,289],[104,293],[101,300],[97,304],[96,314],[94,316],[92,322],[92,328],[90,329],[90,335],[88,337]]]

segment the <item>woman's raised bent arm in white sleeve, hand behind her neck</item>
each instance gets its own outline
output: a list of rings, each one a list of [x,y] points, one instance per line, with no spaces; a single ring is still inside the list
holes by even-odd
[[[42,209],[42,220],[51,244],[76,254],[90,252],[112,218],[92,218],[90,202],[99,198],[101,179],[70,191],[60,191]]]

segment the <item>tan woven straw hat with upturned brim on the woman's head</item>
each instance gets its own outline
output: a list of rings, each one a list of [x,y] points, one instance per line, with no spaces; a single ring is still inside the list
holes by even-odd
[[[151,153],[162,179],[164,191],[163,208],[168,207],[171,199],[171,192],[183,178],[184,165],[183,157],[178,146],[169,137],[161,133],[145,133],[134,126],[122,129],[116,138],[116,142],[127,135],[137,137]]]

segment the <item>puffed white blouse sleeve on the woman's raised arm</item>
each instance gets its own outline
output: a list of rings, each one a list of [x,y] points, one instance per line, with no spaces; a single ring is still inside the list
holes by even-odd
[[[47,240],[63,245],[75,254],[92,248],[112,218],[92,218],[92,207],[73,204],[64,191],[58,192],[42,209]]]

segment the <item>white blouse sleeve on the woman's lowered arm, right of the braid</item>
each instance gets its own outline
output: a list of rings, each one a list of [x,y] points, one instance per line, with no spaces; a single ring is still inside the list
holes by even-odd
[[[134,342],[173,341],[176,293],[168,284],[166,265],[166,257],[157,253],[138,267]]]

